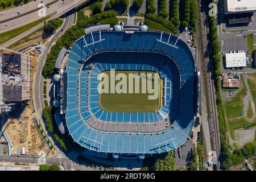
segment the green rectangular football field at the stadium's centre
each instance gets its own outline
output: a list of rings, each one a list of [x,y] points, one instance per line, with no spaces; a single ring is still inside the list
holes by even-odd
[[[110,71],[104,72],[110,78]],[[146,72],[146,71],[115,71],[115,75],[118,73],[124,73],[127,78],[129,73],[155,73],[155,72]],[[100,94],[100,106],[102,110],[112,111],[112,112],[124,112],[124,113],[153,113],[160,109],[160,76],[159,76],[159,85],[155,90],[158,90],[159,97],[156,100],[149,100],[148,96],[152,94],[142,93],[142,79],[147,79],[145,77],[140,78],[139,84],[139,93],[102,93]],[[129,79],[127,79],[127,92],[129,90]],[[115,85],[119,80],[115,80]],[[155,79],[151,81],[151,84],[154,88]],[[122,88],[122,87],[121,87]],[[135,83],[133,86],[135,90]],[[110,82],[109,82],[110,90]]]

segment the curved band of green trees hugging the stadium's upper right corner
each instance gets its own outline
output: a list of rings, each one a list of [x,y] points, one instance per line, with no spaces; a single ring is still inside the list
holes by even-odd
[[[170,20],[162,18],[161,16],[156,15],[156,14],[146,14],[146,18],[150,19],[156,23],[162,24],[162,26],[168,28],[168,30],[170,30],[172,34],[179,33],[179,30],[177,29],[177,27],[175,27],[174,24],[172,24],[172,22]]]

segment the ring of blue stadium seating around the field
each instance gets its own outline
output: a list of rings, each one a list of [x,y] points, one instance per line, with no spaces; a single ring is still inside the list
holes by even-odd
[[[92,37],[93,36],[93,37]],[[97,152],[121,154],[155,154],[174,150],[185,142],[193,124],[193,77],[195,63],[187,45],[178,40],[176,47],[159,42],[161,32],[104,31],[85,35],[71,48],[67,61],[67,127],[73,139],[82,147]],[[169,34],[162,34],[167,42]],[[176,36],[169,43],[174,45]],[[91,44],[90,46],[86,46]],[[125,56],[115,56],[117,53]],[[133,54],[148,53],[140,59]],[[104,55],[108,53],[108,56]],[[149,55],[151,53],[151,55]],[[156,60],[158,56],[164,57]],[[102,59],[93,60],[93,57]],[[89,57],[89,58],[88,58]],[[104,59],[105,57],[105,59]],[[119,113],[102,110],[97,91],[98,76],[110,69],[158,71],[164,84],[165,105],[158,113]],[[118,126],[136,123],[146,126],[174,118],[171,127],[163,131],[122,132],[115,129],[97,129],[87,121],[94,118],[101,125]],[[119,123],[121,123],[119,125]],[[107,125],[105,125],[107,126]],[[146,127],[145,126],[145,127]]]

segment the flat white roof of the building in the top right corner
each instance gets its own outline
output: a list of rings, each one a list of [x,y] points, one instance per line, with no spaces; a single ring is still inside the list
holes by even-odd
[[[255,11],[256,1],[252,0],[226,0],[229,12]]]

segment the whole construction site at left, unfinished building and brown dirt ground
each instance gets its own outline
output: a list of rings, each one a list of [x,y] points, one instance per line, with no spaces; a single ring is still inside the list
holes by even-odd
[[[6,121],[1,123],[0,155],[52,156],[42,127],[35,121],[32,104],[32,79],[41,48],[35,45],[22,53],[1,54],[2,106],[14,102]],[[28,56],[26,56],[28,55]],[[2,119],[3,120],[3,119]]]

